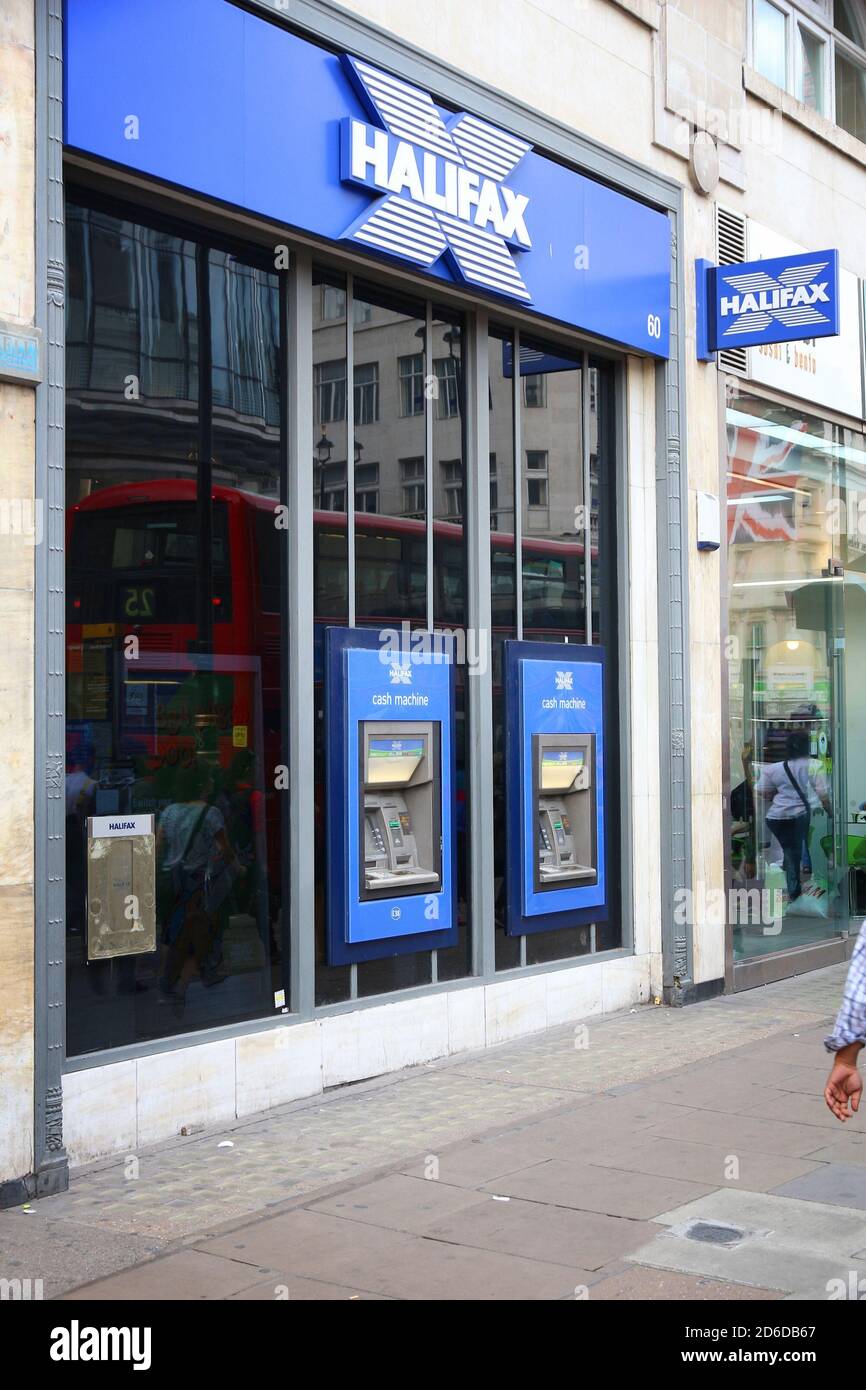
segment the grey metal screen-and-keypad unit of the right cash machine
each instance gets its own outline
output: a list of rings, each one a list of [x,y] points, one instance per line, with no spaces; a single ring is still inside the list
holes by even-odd
[[[535,888],[598,883],[595,734],[534,734]]]

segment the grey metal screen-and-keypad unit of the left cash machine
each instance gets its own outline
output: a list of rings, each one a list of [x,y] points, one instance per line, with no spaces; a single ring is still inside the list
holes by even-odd
[[[442,885],[442,788],[435,720],[364,720],[361,898],[435,892]]]

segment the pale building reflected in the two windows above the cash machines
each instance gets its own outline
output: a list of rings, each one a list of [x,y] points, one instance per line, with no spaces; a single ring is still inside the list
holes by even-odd
[[[327,510],[345,507],[346,488],[346,360],[339,356],[345,339],[345,297],[322,284],[314,297],[314,421],[321,441],[318,498]],[[435,402],[432,510],[446,521],[463,520],[463,439],[460,393],[463,391],[461,334],[459,324],[432,322],[432,371],[425,373],[425,325],[386,309],[354,300],[354,491],[356,507],[384,516],[417,517],[425,509],[424,417],[425,393]],[[527,530],[537,535],[571,537],[581,527],[574,507],[580,499],[581,396],[580,361],[569,370],[557,360],[521,359],[524,450],[523,500]],[[564,368],[564,370],[563,370]],[[500,354],[491,363],[491,512],[493,530],[510,531],[514,521],[513,471],[499,461],[510,450],[510,361]],[[321,431],[320,431],[321,427]],[[591,414],[595,457],[598,420]],[[317,450],[318,453],[318,450]],[[594,512],[596,499],[594,500]]]

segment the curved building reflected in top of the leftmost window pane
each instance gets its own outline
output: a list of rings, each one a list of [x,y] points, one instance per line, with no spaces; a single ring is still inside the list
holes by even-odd
[[[72,500],[149,478],[167,452],[177,477],[197,475],[203,275],[213,481],[267,492],[279,438],[277,277],[217,250],[203,264],[193,242],[74,204],[67,238]]]

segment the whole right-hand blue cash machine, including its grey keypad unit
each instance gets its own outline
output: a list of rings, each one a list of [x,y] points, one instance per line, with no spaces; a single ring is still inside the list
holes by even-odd
[[[605,653],[505,644],[506,927],[607,917]]]

